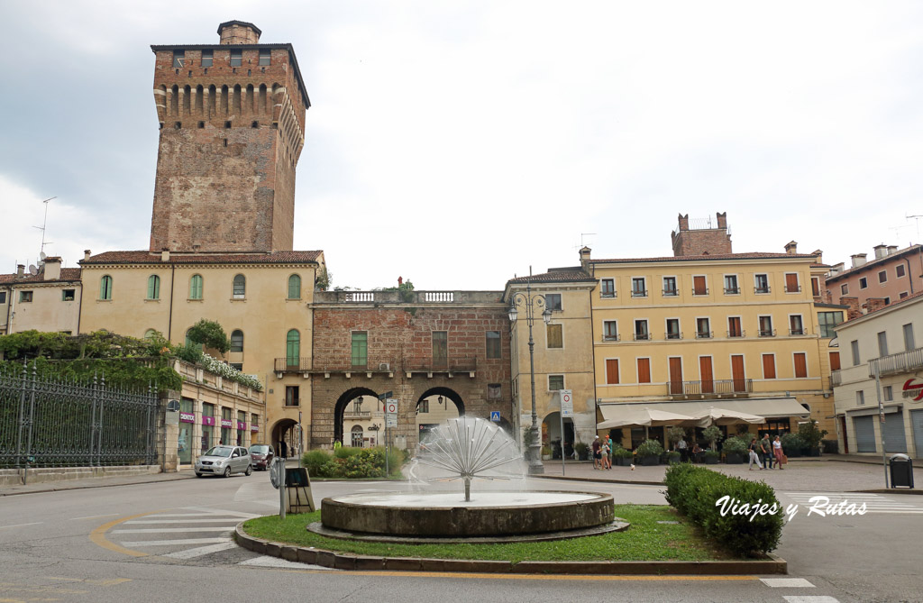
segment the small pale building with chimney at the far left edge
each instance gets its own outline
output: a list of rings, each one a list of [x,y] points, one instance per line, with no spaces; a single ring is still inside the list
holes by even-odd
[[[23,332],[76,334],[80,320],[80,269],[46,258],[36,274],[18,266],[0,274],[0,335]]]

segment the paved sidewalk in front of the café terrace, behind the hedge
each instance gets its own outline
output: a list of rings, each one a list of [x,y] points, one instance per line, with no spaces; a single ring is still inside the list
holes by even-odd
[[[772,470],[760,471],[755,466],[749,471],[747,464],[709,464],[714,471],[728,476],[743,477],[764,481],[773,488],[786,492],[857,492],[863,490],[881,490],[884,488],[884,468],[881,459],[877,464],[869,457],[827,454],[821,457],[789,459],[782,470],[773,466]],[[545,478],[560,479],[561,462],[545,461]],[[923,468],[920,461],[914,462],[915,470]],[[594,482],[613,482],[637,485],[662,485],[666,465],[629,467],[613,465],[612,469],[593,469],[591,462],[568,462],[564,471],[565,479]],[[890,479],[890,476],[889,476]],[[923,471],[917,471],[917,479],[923,479]],[[923,482],[920,482],[923,484]],[[917,487],[917,490],[919,487]],[[889,489],[889,493],[900,494],[907,488]]]

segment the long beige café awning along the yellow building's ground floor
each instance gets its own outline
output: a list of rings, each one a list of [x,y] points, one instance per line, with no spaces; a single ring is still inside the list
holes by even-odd
[[[721,399],[721,400],[696,400],[692,402],[636,402],[629,404],[600,403],[599,412],[602,420],[599,426],[607,421],[620,422],[626,416],[634,416],[641,408],[663,410],[677,415],[696,416],[708,412],[709,408],[725,408],[727,410],[748,413],[749,415],[765,416],[767,418],[797,416],[808,418],[810,413],[807,408],[799,404],[795,398],[748,398],[748,399]],[[597,426],[598,427],[598,426]],[[598,427],[605,429],[605,427]]]

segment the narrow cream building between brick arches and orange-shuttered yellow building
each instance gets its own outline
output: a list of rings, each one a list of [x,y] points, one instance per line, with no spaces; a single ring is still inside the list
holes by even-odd
[[[542,443],[561,440],[560,391],[571,392],[573,418],[565,419],[564,441],[590,443],[596,432],[596,392],[593,378],[593,289],[596,281],[580,267],[552,269],[510,280],[503,294],[517,303],[511,324],[513,405],[518,432],[532,425],[532,371],[527,305],[533,299],[535,412]],[[542,313],[551,310],[548,324]]]

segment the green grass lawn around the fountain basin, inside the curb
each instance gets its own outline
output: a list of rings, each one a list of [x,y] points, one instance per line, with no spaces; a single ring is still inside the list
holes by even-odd
[[[318,536],[306,525],[320,521],[320,512],[258,517],[244,524],[252,537],[301,547],[381,557],[477,559],[487,561],[713,561],[730,559],[709,544],[694,526],[668,506],[616,505],[616,516],[631,526],[602,536],[504,544],[393,544],[338,540]],[[676,525],[658,524],[676,521]]]

